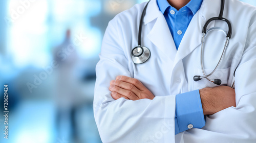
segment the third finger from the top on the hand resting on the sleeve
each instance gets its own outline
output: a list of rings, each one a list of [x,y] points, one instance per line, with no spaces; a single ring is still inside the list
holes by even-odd
[[[139,100],[139,98],[130,90],[122,89],[115,85],[111,85],[109,89],[112,92],[117,92],[117,93],[129,98],[130,100]]]

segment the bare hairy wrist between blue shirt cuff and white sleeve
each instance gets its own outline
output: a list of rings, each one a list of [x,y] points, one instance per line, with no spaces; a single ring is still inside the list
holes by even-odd
[[[236,93],[229,86],[206,87],[199,90],[204,115],[211,115],[228,107],[236,107]]]

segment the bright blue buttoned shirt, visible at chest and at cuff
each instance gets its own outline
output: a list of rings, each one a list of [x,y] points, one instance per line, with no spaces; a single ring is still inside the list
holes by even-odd
[[[202,1],[191,0],[178,11],[170,6],[166,0],[157,0],[177,50],[191,19],[200,9]],[[175,134],[190,128],[202,128],[204,126],[205,120],[199,90],[176,95]]]

